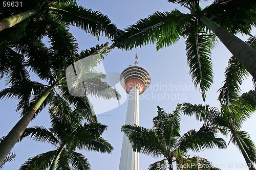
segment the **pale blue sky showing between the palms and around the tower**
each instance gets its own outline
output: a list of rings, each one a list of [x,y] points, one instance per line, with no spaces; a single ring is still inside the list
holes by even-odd
[[[212,1],[209,1],[210,4]],[[170,11],[179,8],[182,12],[186,12],[184,8],[167,3],[166,0],[161,1],[79,1],[79,4],[86,8],[99,10],[106,14],[117,25],[119,29],[126,28],[135,23],[139,18],[147,17],[156,11]],[[204,6],[204,5],[203,5]],[[94,39],[93,36],[83,33],[82,31],[71,27],[72,33],[76,36],[79,43],[80,50],[90,48],[96,44],[108,41],[101,38],[100,41]],[[255,30],[253,31],[255,34]],[[241,37],[241,36],[240,36]],[[246,40],[246,37],[242,37]],[[178,103],[189,102],[193,104],[209,104],[211,106],[219,107],[217,101],[218,89],[224,81],[224,70],[227,66],[227,61],[231,54],[220,42],[212,51],[212,62],[214,69],[214,84],[210,90],[206,92],[206,102],[202,101],[199,89],[196,89],[188,74],[189,68],[186,61],[185,40],[180,39],[176,44],[156,51],[155,45],[146,45],[132,51],[121,51],[114,49],[103,61],[105,72],[122,72],[129,64],[135,61],[135,54],[139,54],[139,65],[146,68],[151,74],[151,86],[141,95],[140,100],[140,126],[151,128],[152,118],[156,116],[157,106],[164,108],[166,112],[172,112]],[[119,87],[119,85],[116,85]],[[5,88],[4,79],[0,81],[0,89]],[[242,90],[248,91],[252,89],[251,77],[249,77],[243,84]],[[124,90],[118,90],[123,94],[123,99],[126,98]],[[2,110],[0,118],[0,136],[6,135],[11,128],[17,123],[19,119],[18,113],[15,112],[16,100],[2,100],[0,108]],[[101,113],[100,109],[106,109],[110,104],[106,101],[93,101],[96,112]],[[115,105],[112,101],[111,105]],[[124,125],[126,115],[127,101],[121,106],[114,108],[108,112],[98,115],[100,123],[108,125],[108,130],[103,134],[103,137],[113,145],[113,154],[100,154],[96,152],[81,151],[91,163],[93,170],[98,169],[118,169],[121,144],[123,134],[121,126]],[[256,115],[254,114],[248,119],[243,130],[249,132],[253,141],[256,141],[256,135],[253,132],[253,126]],[[50,120],[47,109],[43,110],[38,116],[29,124],[31,126],[50,127]],[[182,116],[181,133],[190,129],[198,129],[200,123],[194,118]],[[228,138],[224,138],[228,142]],[[4,169],[18,169],[29,157],[35,156],[52,150],[50,144],[37,143],[30,139],[25,139],[21,143],[17,143],[13,151],[17,154],[16,160],[7,163]],[[206,157],[216,166],[221,166],[222,169],[247,169],[245,161],[239,150],[232,144],[226,150],[206,150],[200,153],[189,152],[190,155],[199,155]],[[140,169],[147,169],[148,165],[157,159],[151,156],[140,154]],[[232,166],[232,168],[231,168]]]

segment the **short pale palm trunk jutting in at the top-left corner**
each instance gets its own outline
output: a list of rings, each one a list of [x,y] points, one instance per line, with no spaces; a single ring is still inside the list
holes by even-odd
[[[31,15],[34,15],[35,13],[36,13],[36,11],[29,10],[29,11],[25,11],[23,13],[16,14],[16,15],[13,15],[13,16],[10,16],[10,17],[0,20],[0,31],[16,25],[17,23],[30,17]]]

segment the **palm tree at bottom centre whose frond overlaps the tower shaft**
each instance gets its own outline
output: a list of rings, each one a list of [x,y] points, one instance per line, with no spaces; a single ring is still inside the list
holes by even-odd
[[[129,138],[134,151],[155,158],[164,157],[161,161],[151,164],[150,169],[164,164],[165,161],[169,169],[173,169],[173,161],[178,158],[178,152],[184,155],[188,150],[199,152],[215,146],[226,148],[225,141],[217,137],[217,131],[207,126],[202,126],[198,131],[189,130],[181,136],[180,109],[181,105],[178,105],[173,113],[166,113],[158,106],[158,115],[153,118],[151,129],[136,125],[122,126],[122,132]]]

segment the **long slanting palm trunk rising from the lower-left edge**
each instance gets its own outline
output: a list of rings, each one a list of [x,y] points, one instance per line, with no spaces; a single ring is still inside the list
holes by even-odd
[[[49,89],[47,89],[44,93],[42,93],[37,102],[26,112],[26,114],[18,121],[18,123],[0,143],[0,164],[3,163],[7,155],[10,153],[11,149],[14,147],[15,143],[18,141],[19,137],[23,134],[30,121],[34,117],[36,110],[41,106],[42,102],[45,101],[54,86],[55,84],[49,87]]]

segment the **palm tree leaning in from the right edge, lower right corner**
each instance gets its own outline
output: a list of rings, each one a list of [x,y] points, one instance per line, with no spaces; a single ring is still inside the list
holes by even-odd
[[[255,170],[253,163],[256,162],[256,147],[250,135],[241,129],[245,120],[255,110],[256,93],[254,90],[244,93],[236,101],[232,100],[228,105],[221,103],[220,110],[209,105],[184,103],[182,106],[182,111],[186,115],[195,115],[197,119],[203,121],[207,126],[218,128],[225,136],[230,134],[230,141],[237,145],[250,170]]]

